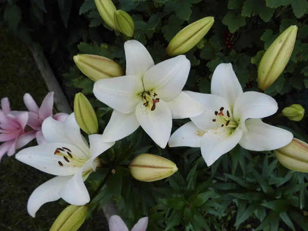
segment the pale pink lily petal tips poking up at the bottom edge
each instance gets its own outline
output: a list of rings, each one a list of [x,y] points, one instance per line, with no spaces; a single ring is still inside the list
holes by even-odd
[[[136,225],[134,225],[131,231],[145,231],[148,224],[148,217],[141,218]],[[113,215],[109,219],[110,231],[128,231],[124,221],[118,215]]]

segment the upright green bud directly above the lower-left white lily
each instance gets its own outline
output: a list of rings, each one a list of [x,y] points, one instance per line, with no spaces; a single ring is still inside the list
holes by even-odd
[[[87,134],[98,133],[99,131],[98,118],[95,114],[95,111],[91,103],[81,92],[75,95],[74,114],[76,122],[84,132],[86,132]]]

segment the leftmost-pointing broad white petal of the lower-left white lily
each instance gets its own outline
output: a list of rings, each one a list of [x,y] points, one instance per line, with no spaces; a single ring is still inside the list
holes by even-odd
[[[21,150],[16,154],[16,159],[38,170],[55,176],[69,176],[75,174],[81,167],[73,166],[72,162],[66,162],[64,157],[54,155],[57,148],[66,147],[76,157],[83,157],[79,148],[65,143],[47,143]],[[69,159],[69,158],[68,158]],[[59,161],[63,164],[61,166]],[[85,160],[86,161],[86,160]]]

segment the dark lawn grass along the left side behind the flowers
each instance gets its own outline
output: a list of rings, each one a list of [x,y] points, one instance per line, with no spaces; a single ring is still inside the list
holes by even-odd
[[[28,47],[0,28],[0,99],[8,97],[12,110],[25,110],[23,95],[30,93],[41,103],[48,93]],[[33,141],[31,145],[36,145]],[[38,210],[35,219],[27,213],[32,191],[53,176],[4,156],[0,163],[0,230],[49,230],[68,205],[49,202]],[[108,230],[102,211],[94,211],[80,230]]]

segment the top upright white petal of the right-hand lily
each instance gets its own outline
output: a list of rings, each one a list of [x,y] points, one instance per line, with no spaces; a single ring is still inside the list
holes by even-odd
[[[212,94],[220,95],[233,108],[243,89],[230,63],[222,63],[216,67],[211,79],[210,91]]]

